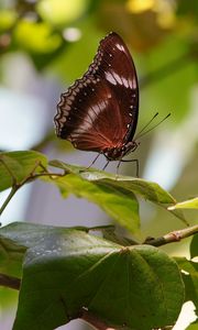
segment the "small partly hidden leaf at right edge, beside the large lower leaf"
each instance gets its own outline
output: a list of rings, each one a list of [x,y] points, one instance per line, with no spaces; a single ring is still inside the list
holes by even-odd
[[[175,261],[179,268],[187,273],[183,273],[186,292],[185,300],[191,300],[198,312],[198,263],[188,261],[185,257],[175,257]]]

